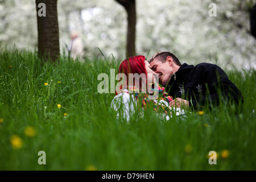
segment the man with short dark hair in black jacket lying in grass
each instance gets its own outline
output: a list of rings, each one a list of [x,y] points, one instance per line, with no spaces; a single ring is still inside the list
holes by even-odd
[[[217,65],[200,63],[195,67],[183,63],[170,52],[156,52],[148,60],[151,69],[159,74],[159,82],[175,98],[171,106],[193,107],[196,110],[207,102],[217,106],[222,96],[238,105],[243,97],[226,73]]]

